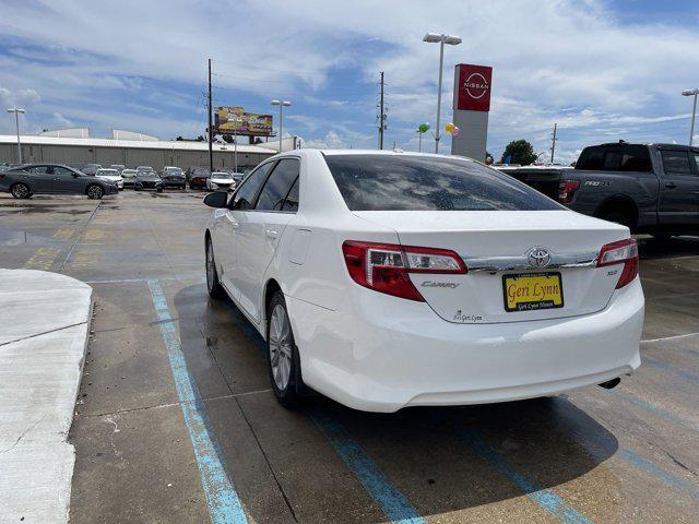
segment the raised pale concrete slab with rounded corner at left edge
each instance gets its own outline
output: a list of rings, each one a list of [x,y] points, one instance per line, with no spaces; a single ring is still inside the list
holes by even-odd
[[[92,300],[69,276],[0,270],[0,522],[68,521]]]

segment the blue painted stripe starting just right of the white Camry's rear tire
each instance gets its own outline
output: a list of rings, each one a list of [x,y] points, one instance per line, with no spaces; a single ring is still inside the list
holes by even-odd
[[[356,475],[364,489],[381,508],[387,519],[400,524],[425,524],[425,520],[407,498],[386,478],[379,466],[347,434],[340,422],[321,409],[311,409],[308,415]]]

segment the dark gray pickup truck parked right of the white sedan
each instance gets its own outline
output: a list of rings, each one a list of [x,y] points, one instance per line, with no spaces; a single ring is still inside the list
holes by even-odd
[[[655,236],[699,235],[699,147],[585,147],[576,168],[500,168],[573,211]]]

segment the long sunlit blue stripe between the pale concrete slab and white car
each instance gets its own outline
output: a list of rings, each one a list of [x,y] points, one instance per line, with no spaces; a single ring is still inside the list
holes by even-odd
[[[194,457],[199,467],[201,486],[206,496],[211,521],[213,524],[247,524],[248,519],[240,504],[238,493],[228,478],[223,460],[217,452],[218,444],[206,427],[205,408],[197,382],[187,367],[180,337],[163,288],[155,279],[147,281],[147,284],[167,349],[182,417],[194,449]]]

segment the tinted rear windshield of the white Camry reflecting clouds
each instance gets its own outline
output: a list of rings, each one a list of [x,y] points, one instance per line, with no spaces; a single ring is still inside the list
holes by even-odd
[[[564,209],[472,160],[399,155],[327,155],[351,211],[541,211]]]

